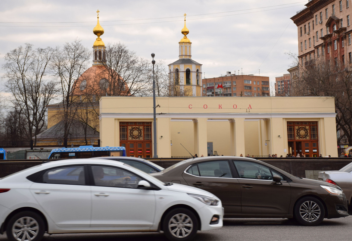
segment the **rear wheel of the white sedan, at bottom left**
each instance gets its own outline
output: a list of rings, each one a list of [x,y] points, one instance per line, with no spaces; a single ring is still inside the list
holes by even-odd
[[[43,218],[32,211],[19,212],[8,221],[6,234],[10,241],[39,241],[44,235]]]

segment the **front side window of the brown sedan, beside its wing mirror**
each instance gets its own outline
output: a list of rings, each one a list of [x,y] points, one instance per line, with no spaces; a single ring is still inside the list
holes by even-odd
[[[270,169],[255,162],[233,161],[240,178],[272,179]]]

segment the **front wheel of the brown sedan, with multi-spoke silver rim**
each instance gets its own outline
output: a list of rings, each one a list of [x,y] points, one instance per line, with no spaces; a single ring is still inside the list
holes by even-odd
[[[318,198],[304,197],[296,202],[294,215],[298,223],[304,226],[315,226],[323,221],[325,208]]]

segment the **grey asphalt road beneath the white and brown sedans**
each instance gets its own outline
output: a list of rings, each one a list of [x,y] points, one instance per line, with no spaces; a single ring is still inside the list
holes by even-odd
[[[0,241],[7,240],[0,235]],[[53,234],[43,241],[166,241],[162,233]],[[226,218],[224,227],[199,231],[194,241],[352,241],[352,216],[304,227],[288,219]]]

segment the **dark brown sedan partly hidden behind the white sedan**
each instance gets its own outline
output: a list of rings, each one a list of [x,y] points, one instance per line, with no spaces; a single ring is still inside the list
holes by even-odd
[[[340,187],[294,177],[252,158],[197,157],[151,175],[215,194],[229,218],[295,218],[303,225],[314,226],[324,218],[348,216],[347,200]]]

